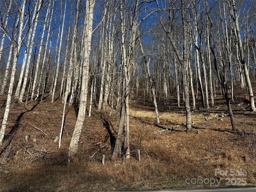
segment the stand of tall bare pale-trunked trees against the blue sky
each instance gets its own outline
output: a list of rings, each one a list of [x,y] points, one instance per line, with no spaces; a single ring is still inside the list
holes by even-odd
[[[50,96],[77,109],[68,154],[78,150],[85,115],[118,110],[112,159],[130,158],[129,101],[157,102],[175,92],[191,111],[226,100],[233,130],[234,86],[246,87],[255,111],[255,9],[235,0],[1,0],[0,93],[6,95],[0,145],[11,104]],[[198,105],[196,101],[200,101]],[[86,113],[87,111],[87,113]]]

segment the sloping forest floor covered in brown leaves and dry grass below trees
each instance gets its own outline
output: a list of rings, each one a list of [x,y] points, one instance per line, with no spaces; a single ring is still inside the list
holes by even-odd
[[[231,131],[227,107],[219,94],[214,107],[193,112],[193,131],[189,133],[185,131],[183,104],[179,108],[174,97],[158,100],[160,125],[155,124],[153,101],[131,99],[131,158],[115,162],[110,161],[110,155],[118,129],[118,111],[99,112],[93,107],[92,117],[85,117],[79,153],[69,166],[67,149],[76,123],[74,106],[67,107],[59,149],[56,137],[61,126],[61,99],[51,103],[50,97],[46,97],[42,103],[29,101],[27,106],[13,102],[6,137],[0,146],[0,191],[217,187],[216,183],[194,184],[191,180],[188,183],[188,178],[222,179],[219,187],[230,187],[224,180],[230,175],[215,176],[215,169],[246,171],[243,176],[246,185],[254,186],[256,114],[249,111],[246,103],[241,104],[245,92],[235,90],[236,98],[232,104],[237,133]],[[0,98],[1,123],[5,101],[6,96]],[[221,117],[222,113],[227,116]],[[140,162],[137,161],[138,149]],[[105,165],[101,163],[102,155],[106,156]],[[237,182],[235,184],[239,184]]]

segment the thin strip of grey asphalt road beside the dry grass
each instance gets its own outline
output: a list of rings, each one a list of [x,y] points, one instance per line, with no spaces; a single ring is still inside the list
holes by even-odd
[[[256,187],[241,187],[241,188],[215,188],[215,189],[181,189],[181,190],[150,190],[148,192],[203,192],[203,191],[214,191],[214,192],[254,192]],[[138,191],[139,192],[139,191]]]

